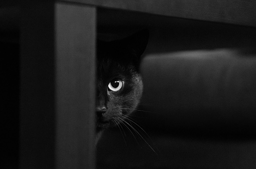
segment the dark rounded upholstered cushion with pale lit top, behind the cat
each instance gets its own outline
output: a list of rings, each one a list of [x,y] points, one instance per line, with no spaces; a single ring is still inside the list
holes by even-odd
[[[141,104],[157,112],[149,113],[157,125],[256,131],[256,57],[231,49],[151,53],[141,71]]]

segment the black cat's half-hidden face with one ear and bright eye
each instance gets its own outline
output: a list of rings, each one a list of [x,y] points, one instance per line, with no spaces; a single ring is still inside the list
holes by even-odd
[[[143,90],[140,56],[147,40],[144,30],[123,40],[98,41],[97,132],[117,125],[137,107]]]

